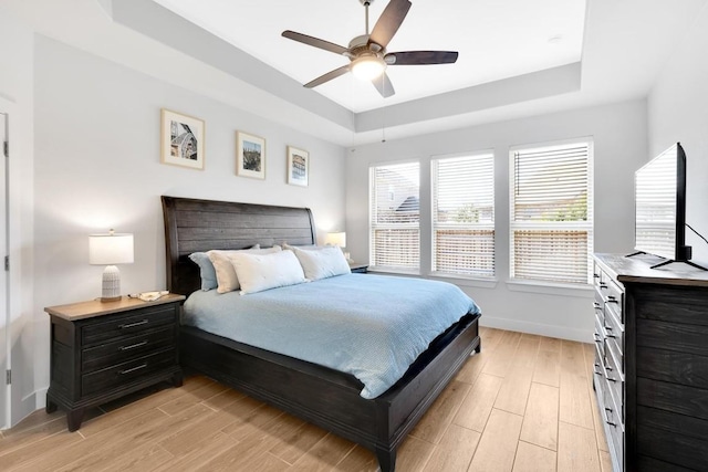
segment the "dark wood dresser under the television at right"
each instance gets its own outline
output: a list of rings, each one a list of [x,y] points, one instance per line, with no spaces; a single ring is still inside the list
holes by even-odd
[[[705,471],[708,275],[657,262],[595,255],[593,386],[615,471]]]

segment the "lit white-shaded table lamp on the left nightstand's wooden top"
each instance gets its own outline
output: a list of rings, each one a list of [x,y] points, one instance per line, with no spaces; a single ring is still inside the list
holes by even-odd
[[[108,233],[88,235],[88,263],[105,265],[101,301],[121,300],[121,271],[115,264],[133,263],[133,234]]]

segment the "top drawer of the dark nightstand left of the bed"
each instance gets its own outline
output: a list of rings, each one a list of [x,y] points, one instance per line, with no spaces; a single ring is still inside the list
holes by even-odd
[[[175,308],[170,306],[155,306],[132,312],[129,315],[117,315],[106,318],[95,318],[81,332],[84,346],[105,340],[114,340],[123,336],[132,336],[163,325],[174,325]]]

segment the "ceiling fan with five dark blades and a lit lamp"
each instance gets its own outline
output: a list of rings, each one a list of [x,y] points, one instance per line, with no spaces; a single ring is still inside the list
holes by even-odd
[[[405,51],[387,52],[386,46],[391,42],[403,20],[410,9],[409,0],[391,0],[381,18],[374,25],[371,34],[368,32],[368,6],[374,0],[360,0],[365,8],[366,33],[350,41],[348,48],[309,36],[295,31],[285,30],[282,35],[293,41],[320,48],[335,54],[342,54],[350,60],[350,63],[330,71],[314,81],[304,84],[312,88],[329,82],[333,78],[352,72],[354,75],[369,80],[382,94],[383,97],[392,96],[393,84],[386,75],[388,65],[427,65],[427,64],[452,64],[457,61],[456,51]]]

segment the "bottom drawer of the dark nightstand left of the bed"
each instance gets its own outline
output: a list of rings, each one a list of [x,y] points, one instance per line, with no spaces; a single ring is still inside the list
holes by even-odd
[[[148,356],[118,364],[81,376],[81,394],[87,396],[103,392],[112,387],[121,386],[143,376],[149,376],[160,369],[171,367],[176,363],[176,349],[174,347],[160,350]]]

